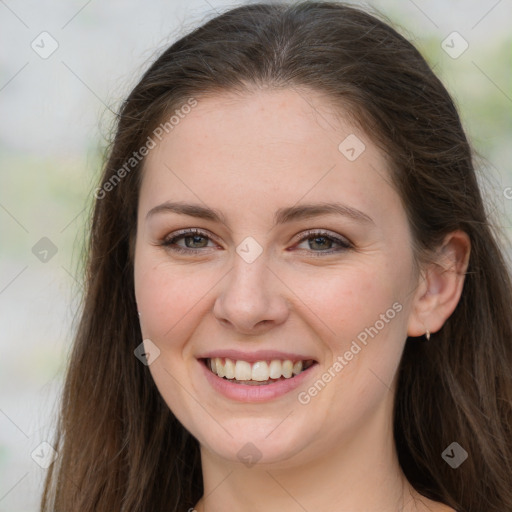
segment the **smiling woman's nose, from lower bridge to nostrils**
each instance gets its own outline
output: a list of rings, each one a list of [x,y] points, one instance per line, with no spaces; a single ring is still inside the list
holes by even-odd
[[[233,269],[219,284],[213,313],[224,326],[246,335],[261,335],[286,321],[288,289],[261,255],[252,263],[236,256]]]

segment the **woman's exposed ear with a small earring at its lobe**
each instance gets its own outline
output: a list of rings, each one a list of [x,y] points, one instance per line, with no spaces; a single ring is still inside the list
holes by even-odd
[[[462,294],[470,252],[471,242],[464,231],[454,231],[444,238],[435,260],[420,273],[408,336],[422,336],[427,329],[439,331],[453,313]]]

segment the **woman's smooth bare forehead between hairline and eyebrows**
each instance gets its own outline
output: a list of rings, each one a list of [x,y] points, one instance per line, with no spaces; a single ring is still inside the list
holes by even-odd
[[[303,198],[350,201],[378,215],[379,204],[397,199],[369,137],[324,96],[296,89],[198,98],[150,151],[143,172],[146,210],[183,198],[233,214]]]

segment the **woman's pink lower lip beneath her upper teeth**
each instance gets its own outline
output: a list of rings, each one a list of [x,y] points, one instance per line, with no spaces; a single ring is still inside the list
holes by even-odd
[[[311,370],[317,366],[317,363],[315,363],[307,370],[302,371],[290,379],[278,380],[272,384],[251,386],[247,384],[236,384],[227,379],[221,378],[210,371],[203,361],[198,362],[203,368],[203,373],[205,374],[206,379],[216,391],[227,398],[231,398],[232,400],[237,400],[239,402],[266,402],[283,396],[300,386],[311,374]]]

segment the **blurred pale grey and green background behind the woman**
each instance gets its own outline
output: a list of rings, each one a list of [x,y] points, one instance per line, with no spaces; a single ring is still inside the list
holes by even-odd
[[[113,114],[162,49],[235,5],[0,0],[0,511],[35,512]],[[348,2],[412,40],[454,96],[512,228],[512,0]],[[510,253],[509,253],[510,254]]]

